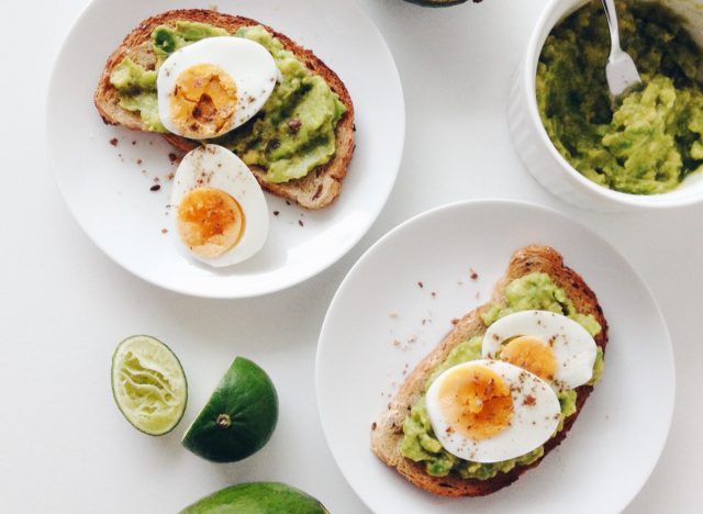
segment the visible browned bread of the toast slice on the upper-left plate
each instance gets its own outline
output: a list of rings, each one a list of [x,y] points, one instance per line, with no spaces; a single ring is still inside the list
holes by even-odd
[[[146,69],[154,69],[156,56],[152,49],[152,32],[158,25],[172,26],[177,21],[191,21],[208,23],[219,26],[230,33],[236,32],[242,26],[263,25],[248,18],[235,16],[207,9],[182,9],[167,11],[144,20],[134,29],[115,49],[100,77],[94,94],[94,103],[102,116],[102,120],[111,125],[122,125],[136,131],[145,131],[138,113],[130,112],[119,105],[118,91],[110,83],[110,74],[124,57],[131,57],[136,64]],[[347,112],[342,116],[335,130],[336,153],[332,160],[324,166],[312,170],[305,177],[289,180],[288,182],[274,183],[265,179],[266,169],[253,166],[252,171],[264,189],[277,197],[291,200],[306,209],[322,209],[337,198],[342,190],[342,180],[347,174],[352,155],[354,154],[354,104],[346,87],[322,60],[302,46],[299,46],[286,35],[276,32],[274,29],[263,25],[274,34],[283,46],[292,52],[315,75],[321,76],[337,93],[339,100],[347,108]],[[177,148],[188,152],[198,144],[175,134],[165,134],[165,138]]]

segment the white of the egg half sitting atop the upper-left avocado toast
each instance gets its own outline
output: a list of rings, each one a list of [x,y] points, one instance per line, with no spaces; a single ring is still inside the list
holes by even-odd
[[[170,115],[170,94],[176,79],[182,71],[199,64],[220,66],[237,88],[236,110],[227,127],[219,135],[243,125],[259,112],[279,77],[271,54],[260,44],[244,37],[207,37],[183,46],[168,56],[156,78],[158,115],[166,130],[174,134],[182,135]]]

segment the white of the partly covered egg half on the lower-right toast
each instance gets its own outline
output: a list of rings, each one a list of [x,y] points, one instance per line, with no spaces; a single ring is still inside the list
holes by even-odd
[[[567,316],[550,311],[521,311],[501,317],[483,336],[482,356],[498,357],[503,343],[516,336],[533,336],[551,347],[557,360],[554,384],[573,389],[593,377],[595,340],[585,328]]]

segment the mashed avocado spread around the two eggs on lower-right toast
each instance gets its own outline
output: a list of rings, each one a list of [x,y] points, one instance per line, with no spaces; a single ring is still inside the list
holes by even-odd
[[[490,305],[481,314],[481,317],[488,327],[500,317],[526,310],[544,310],[563,314],[581,324],[593,336],[601,332],[601,325],[591,314],[584,315],[576,312],[573,303],[567,298],[563,290],[557,287],[548,275],[540,272],[529,273],[510,282],[505,289],[505,303]],[[425,391],[444,370],[461,362],[480,359],[481,343],[482,336],[477,336],[457,345],[449,353],[446,360],[433,371],[425,384]],[[599,348],[595,364],[593,365],[593,378],[589,383],[598,382],[602,371],[603,351]],[[561,420],[557,428],[558,432],[562,428],[563,420],[576,412],[577,392],[567,390],[560,391],[557,395],[561,404]],[[535,448],[515,459],[494,463],[471,462],[455,457],[445,450],[435,437],[425,406],[425,396],[423,395],[413,405],[403,423],[401,454],[403,457],[416,462],[424,462],[425,471],[433,477],[445,477],[451,472],[461,478],[488,480],[499,472],[506,473],[511,471],[515,466],[525,466],[534,462],[544,455],[544,447]]]

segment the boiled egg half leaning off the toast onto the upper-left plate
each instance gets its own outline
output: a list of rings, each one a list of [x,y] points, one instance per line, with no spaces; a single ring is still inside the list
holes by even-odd
[[[174,177],[176,232],[190,255],[220,268],[248,259],[266,242],[268,208],[247,166],[232,152],[203,145]]]

